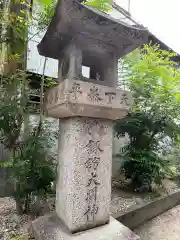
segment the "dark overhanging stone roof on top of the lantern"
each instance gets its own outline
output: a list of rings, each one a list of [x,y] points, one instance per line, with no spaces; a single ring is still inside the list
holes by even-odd
[[[38,45],[41,55],[59,59],[59,53],[77,35],[97,39],[96,49],[104,49],[105,45],[108,51],[111,48],[116,53],[117,59],[147,42],[148,31],[142,26],[132,27],[80,2],[58,1],[48,31]]]

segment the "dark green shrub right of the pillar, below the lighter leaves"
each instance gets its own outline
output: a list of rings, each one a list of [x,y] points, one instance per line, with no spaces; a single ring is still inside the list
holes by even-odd
[[[176,134],[176,129],[169,130],[169,123],[154,121],[152,117],[143,112],[131,113],[126,118],[119,120],[115,125],[117,137],[121,133],[128,133],[130,143],[124,154],[123,170],[127,178],[131,178],[133,188],[137,189],[151,184],[160,183],[165,177],[165,166],[169,164],[159,154],[158,142],[163,133],[169,136]],[[168,136],[168,135],[166,135]],[[122,156],[121,156],[122,157]]]

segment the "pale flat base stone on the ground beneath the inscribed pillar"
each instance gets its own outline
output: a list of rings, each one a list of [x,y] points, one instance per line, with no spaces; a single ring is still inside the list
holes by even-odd
[[[30,234],[36,240],[137,240],[129,228],[111,217],[110,223],[102,227],[72,234],[55,213],[33,221]]]

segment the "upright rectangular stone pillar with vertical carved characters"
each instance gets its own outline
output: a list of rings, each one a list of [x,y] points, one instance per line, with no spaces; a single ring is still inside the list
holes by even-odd
[[[71,232],[103,225],[110,218],[112,122],[61,120],[56,212]]]

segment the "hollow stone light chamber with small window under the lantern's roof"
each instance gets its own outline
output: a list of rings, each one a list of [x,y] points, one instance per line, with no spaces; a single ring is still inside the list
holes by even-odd
[[[87,45],[88,42],[88,45]],[[81,44],[79,44],[81,43]],[[58,80],[81,80],[94,84],[116,87],[118,59],[111,47],[104,46],[84,35],[75,36],[59,58]],[[109,49],[110,48],[110,49]],[[89,67],[89,76],[82,74],[82,67]]]

